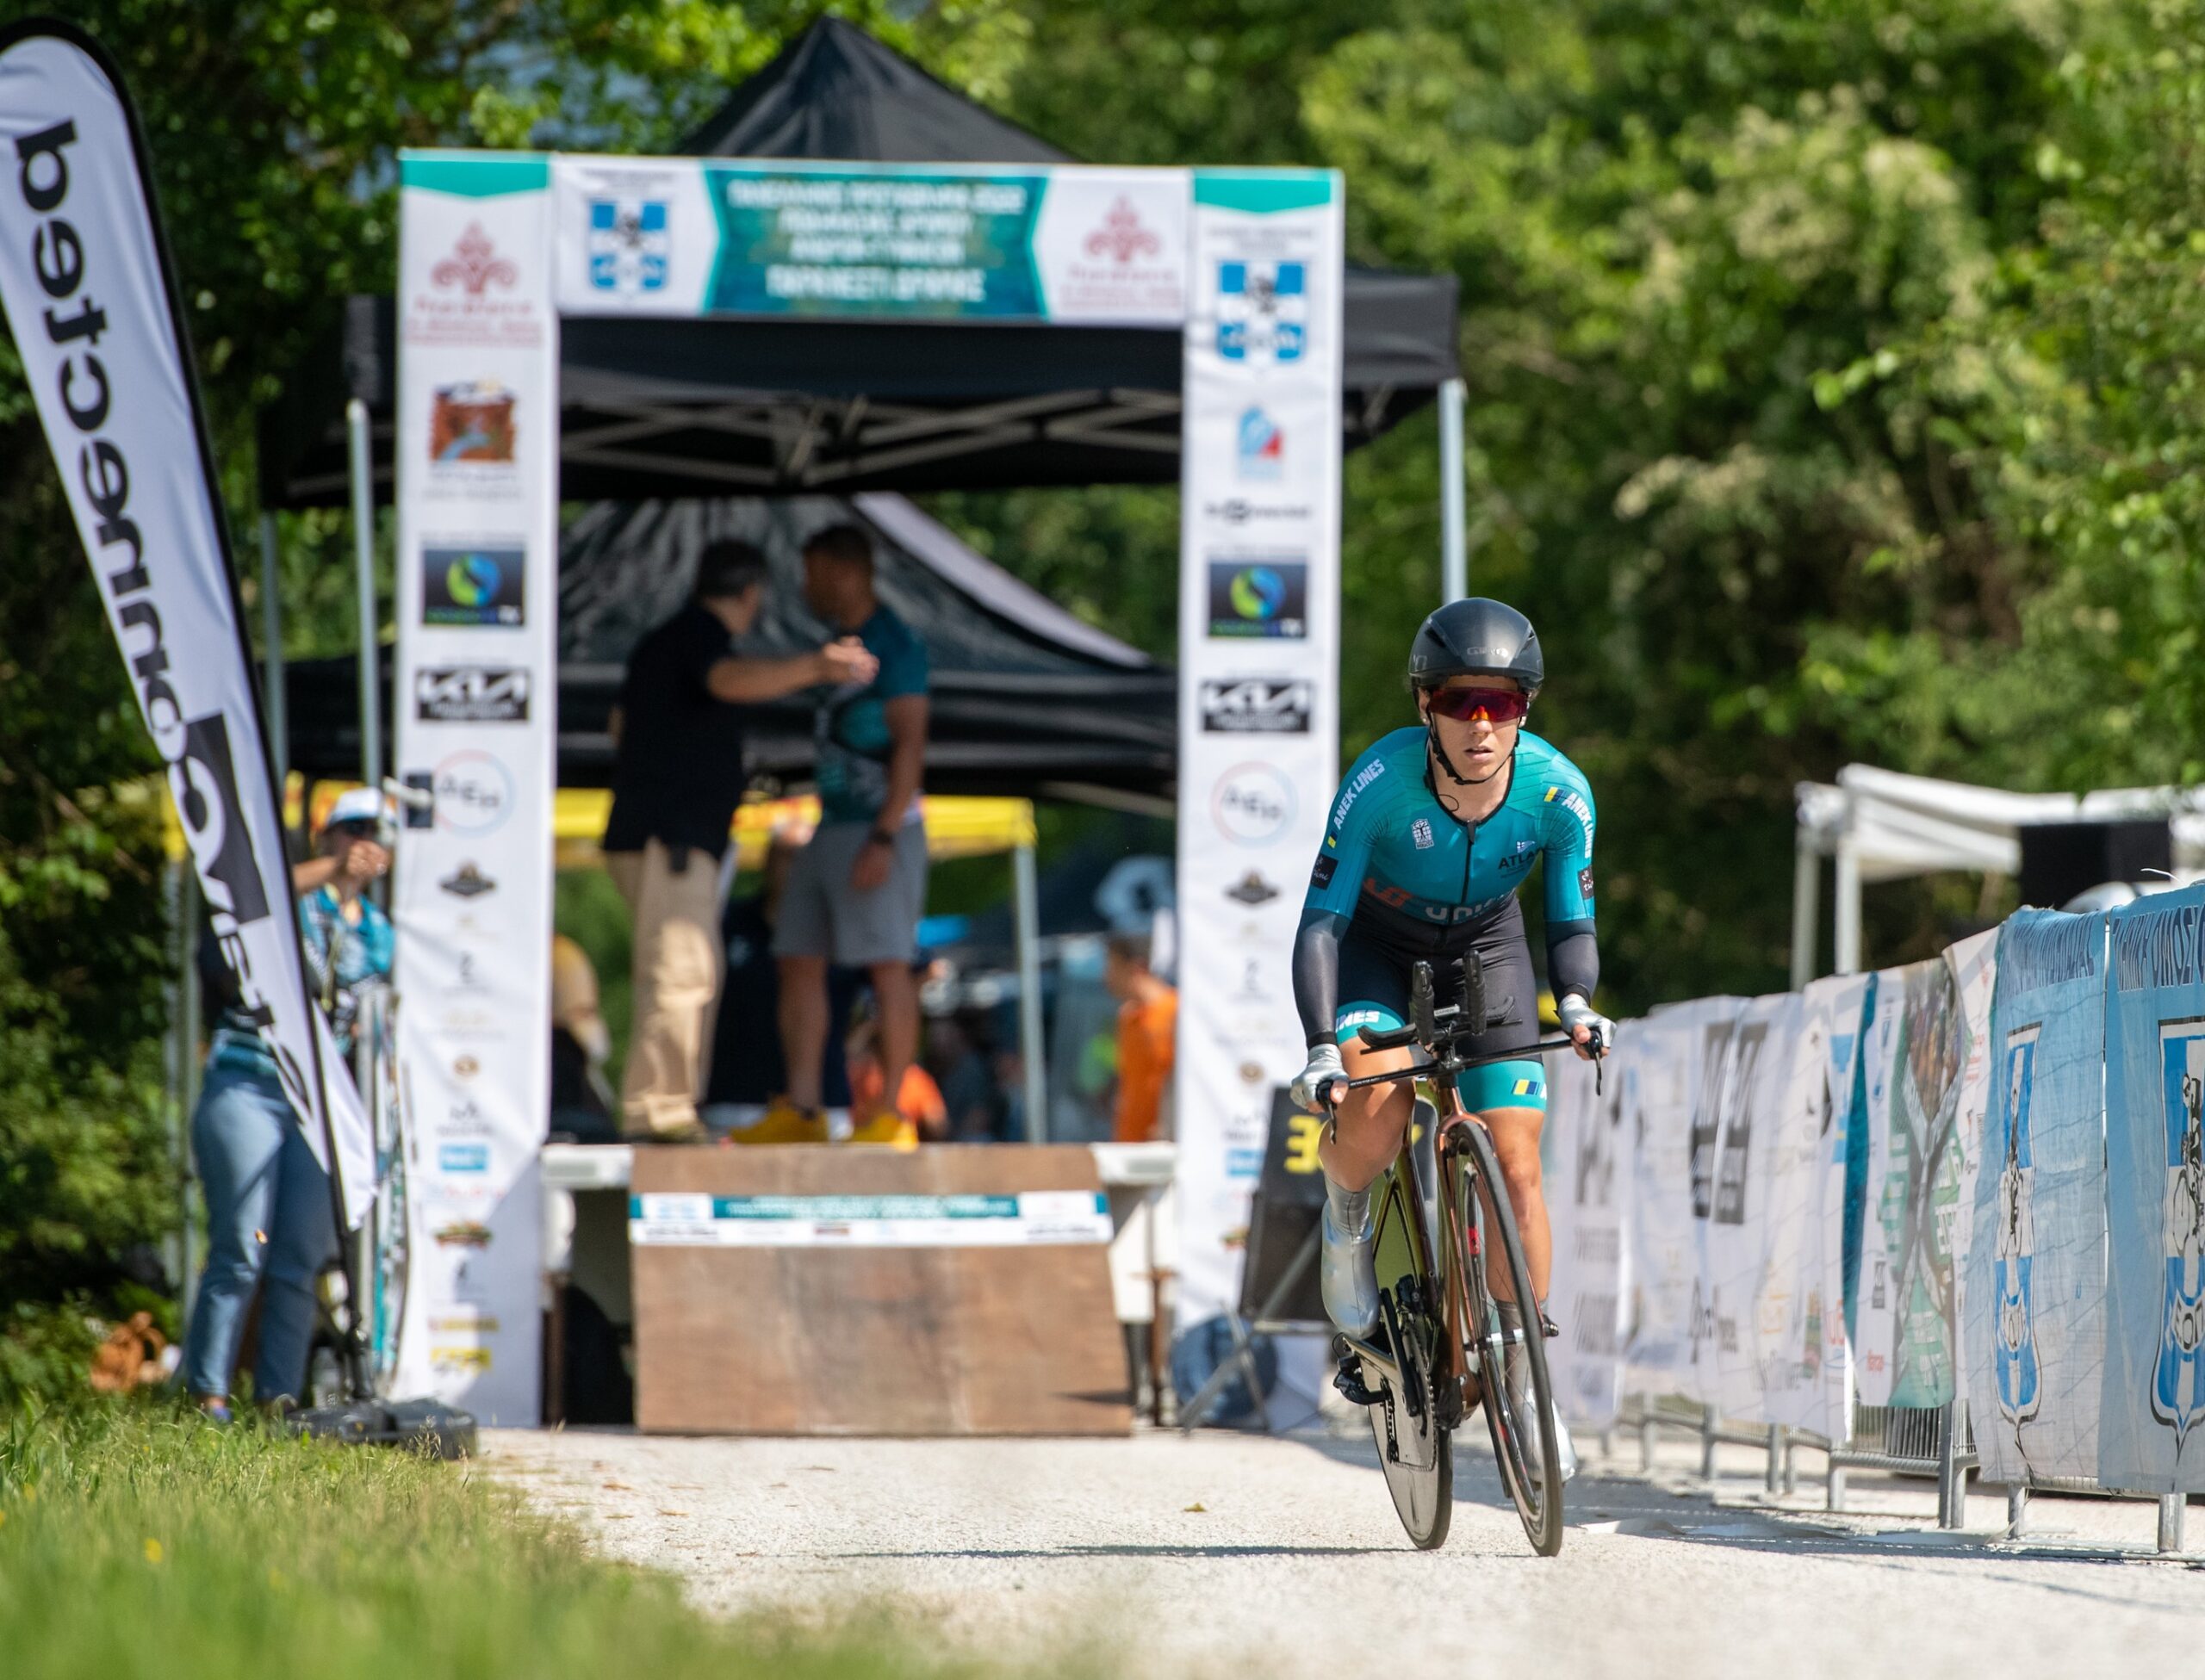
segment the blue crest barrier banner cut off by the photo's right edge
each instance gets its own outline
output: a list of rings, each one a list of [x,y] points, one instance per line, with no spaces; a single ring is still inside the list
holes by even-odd
[[[2205,886],[2110,915],[2101,1486],[2205,1490]]]

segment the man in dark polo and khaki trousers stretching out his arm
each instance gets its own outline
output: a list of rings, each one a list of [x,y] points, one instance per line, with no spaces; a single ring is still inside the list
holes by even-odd
[[[622,1129],[692,1140],[719,997],[719,860],[747,780],[743,710],[820,683],[867,683],[880,661],[856,639],[792,659],[741,659],[765,600],[765,556],[706,547],[688,606],[635,644],[613,712],[617,761],[604,866],[635,915],[635,1005]]]

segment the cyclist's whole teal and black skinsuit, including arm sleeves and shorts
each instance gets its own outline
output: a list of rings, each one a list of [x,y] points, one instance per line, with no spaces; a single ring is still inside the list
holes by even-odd
[[[1484,968],[1495,1025],[1480,1054],[1539,1036],[1537,981],[1517,889],[1546,862],[1546,944],[1555,997],[1592,994],[1592,789],[1530,730],[1502,772],[1508,794],[1488,818],[1460,822],[1431,789],[1422,728],[1394,730],[1356,758],[1332,803],[1294,944],[1294,999],[1310,1043],[1409,1014],[1409,970],[1433,966],[1442,1003],[1462,961]],[[1332,981],[1327,986],[1327,981]],[[1532,1058],[1473,1067],[1460,1080],[1471,1113],[1546,1109],[1546,1069]]]

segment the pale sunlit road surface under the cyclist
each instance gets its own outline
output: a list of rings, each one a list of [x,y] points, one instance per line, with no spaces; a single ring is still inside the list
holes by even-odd
[[[1927,1532],[1923,1484],[1857,1477],[1872,1515],[1775,1510],[1760,1455],[1724,1504],[1678,1442],[1654,1479],[1588,1464],[1555,1561],[1458,1471],[1446,1550],[1402,1541],[1367,1442],[1226,1433],[1122,1442],[666,1440],[492,1431],[492,1464],[613,1557],[681,1574],[714,1609],[836,1623],[880,1605],[924,1640],[1125,1673],[2022,1676],[2192,1671],[2205,1572],[2117,1559],[2152,1506],[2040,1499],[2064,1530],[2015,1552],[2004,1501]],[[1627,1471],[1625,1471],[1627,1466]],[[1899,1515],[1907,1512],[1907,1515]],[[2205,1510],[2192,1515],[2205,1528]],[[2205,1532],[2192,1539],[2205,1546]],[[1488,1667],[1504,1665],[1504,1667]],[[2150,1665],[2150,1667],[2148,1667]],[[2181,1669],[2176,1669],[2181,1665]]]

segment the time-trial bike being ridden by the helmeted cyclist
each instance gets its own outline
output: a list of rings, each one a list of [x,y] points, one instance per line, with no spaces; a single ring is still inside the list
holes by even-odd
[[[1510,1014],[1502,1003],[1502,1016]],[[1365,1049],[1416,1045],[1429,1063],[1391,1074],[1338,1078],[1327,1100],[1367,1085],[1429,1078],[1435,1094],[1431,1175],[1420,1160],[1416,1127],[1374,1186],[1372,1224],[1378,1270],[1378,1329],[1372,1340],[1341,1336],[1338,1389],[1369,1409],[1372,1440],[1394,1510],[1418,1550],[1446,1543],[1455,1497],[1453,1431],[1482,1398],[1502,1488],[1515,1501],[1539,1557],[1561,1550],[1561,1449],[1546,1374],[1546,1336],[1515,1208],[1502,1180],[1493,1138],[1462,1107],[1455,1076],[1488,1063],[1524,1060],[1548,1049],[1574,1049],[1570,1038],[1541,1038],[1521,1049],[1471,1054],[1469,1043],[1502,1025],[1486,1014],[1484,974],[1462,963],[1453,1003],[1435,1005],[1431,963],[1418,963],[1409,986],[1409,1023],[1394,1032],[1363,1030]],[[1506,1288],[1495,1292],[1486,1268],[1497,1261]],[[1544,1332],[1544,1334],[1541,1334]],[[1508,1380],[1510,1354],[1526,1367]]]

